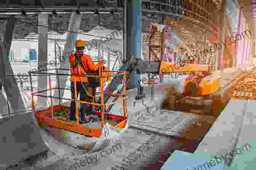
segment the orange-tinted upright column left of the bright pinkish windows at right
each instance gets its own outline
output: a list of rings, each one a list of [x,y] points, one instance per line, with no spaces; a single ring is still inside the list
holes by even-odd
[[[226,0],[223,0],[222,7],[220,11],[220,30],[219,30],[219,41],[222,43],[226,43]],[[222,49],[219,52],[219,64],[218,70],[223,69],[223,56],[225,50]],[[218,58],[217,58],[218,60]]]

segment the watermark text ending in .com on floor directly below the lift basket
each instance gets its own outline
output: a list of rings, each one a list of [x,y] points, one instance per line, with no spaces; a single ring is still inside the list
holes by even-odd
[[[85,155],[83,158],[76,158],[74,164],[69,167],[64,168],[64,170],[78,170],[83,167],[88,167],[90,164],[98,164],[101,158],[107,157],[117,151],[122,150],[122,145],[120,143],[108,147],[100,152]]]

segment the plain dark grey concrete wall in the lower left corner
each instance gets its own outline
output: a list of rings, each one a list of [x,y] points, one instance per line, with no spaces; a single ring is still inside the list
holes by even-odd
[[[48,150],[31,113],[0,118],[0,169]]]

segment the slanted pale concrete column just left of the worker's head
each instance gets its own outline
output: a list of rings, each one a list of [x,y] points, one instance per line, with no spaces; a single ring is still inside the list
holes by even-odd
[[[68,31],[72,32],[67,32],[67,38],[64,46],[64,50],[62,52],[61,56],[61,65],[60,68],[62,69],[69,69],[69,55],[72,54],[73,49],[75,47],[75,41],[77,40],[77,33],[80,28],[80,23],[81,23],[81,14],[77,13],[72,13],[69,21],[69,28]],[[61,70],[59,73],[62,74],[69,74],[69,71],[64,71]],[[59,76],[59,88],[65,88],[67,83],[67,76]],[[56,83],[56,87],[58,88],[58,82]],[[60,90],[60,98],[63,98],[64,95],[64,90]],[[55,90],[54,91],[54,96],[59,97],[59,91]],[[55,103],[58,103],[59,100],[56,99],[54,100]]]

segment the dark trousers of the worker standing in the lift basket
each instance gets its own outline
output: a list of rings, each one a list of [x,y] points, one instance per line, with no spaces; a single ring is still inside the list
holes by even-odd
[[[88,83],[87,82],[75,82],[76,83],[76,86],[77,86],[77,96],[78,94],[80,93],[80,101],[88,101],[90,102],[88,96],[86,95],[86,91],[85,91],[85,88],[86,90],[88,91]],[[74,82],[71,82],[71,98],[72,99],[75,99],[75,88],[74,88]],[[80,104],[81,107],[80,107],[80,113],[81,113],[81,120],[85,120],[85,116],[86,115],[89,115],[89,114],[92,114],[92,107],[91,105],[87,105],[85,103],[81,103]],[[70,119],[71,120],[75,120],[75,102],[72,101],[71,102],[71,105],[70,105]]]

